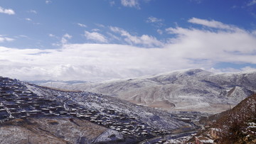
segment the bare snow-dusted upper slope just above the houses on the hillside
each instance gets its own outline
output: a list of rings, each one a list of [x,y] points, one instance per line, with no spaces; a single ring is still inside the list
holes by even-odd
[[[173,116],[171,113],[166,111],[138,106],[111,96],[100,96],[88,92],[60,92],[31,85],[27,85],[27,87],[31,92],[38,96],[48,96],[50,99],[55,99],[64,104],[79,104],[88,109],[100,111],[102,115],[106,114],[105,112],[102,112],[102,110],[112,109],[116,111],[116,113],[124,113],[129,117],[134,117],[137,121],[142,121],[142,123],[146,123],[151,126],[151,128],[156,128],[158,130],[165,129],[170,131],[182,126],[190,126],[188,123],[183,123],[182,121],[172,118]]]

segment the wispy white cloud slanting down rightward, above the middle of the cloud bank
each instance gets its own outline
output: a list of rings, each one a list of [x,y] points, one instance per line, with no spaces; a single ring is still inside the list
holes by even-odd
[[[147,47],[161,47],[163,43],[157,40],[155,37],[151,35],[142,35],[142,36],[134,36],[124,31],[122,28],[110,27],[110,30],[114,33],[119,33],[124,37],[124,41],[129,43],[130,45],[144,45]]]

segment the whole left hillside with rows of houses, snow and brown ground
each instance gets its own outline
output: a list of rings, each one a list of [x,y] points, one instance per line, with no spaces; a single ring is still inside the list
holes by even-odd
[[[193,129],[166,111],[6,77],[0,77],[0,100],[2,143],[137,143]]]

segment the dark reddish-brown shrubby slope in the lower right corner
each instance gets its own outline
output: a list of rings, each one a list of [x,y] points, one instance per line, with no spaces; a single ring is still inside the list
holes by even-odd
[[[217,121],[198,132],[197,138],[211,138],[215,143],[256,143],[256,94],[247,97],[233,109],[211,116],[204,123],[210,120]]]

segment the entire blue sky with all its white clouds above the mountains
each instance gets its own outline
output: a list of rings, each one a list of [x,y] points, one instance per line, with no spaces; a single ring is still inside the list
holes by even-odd
[[[1,0],[0,72],[100,81],[256,68],[256,0]]]

